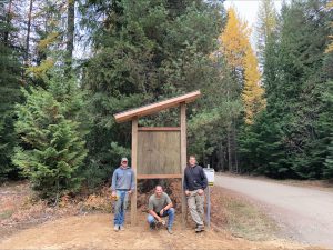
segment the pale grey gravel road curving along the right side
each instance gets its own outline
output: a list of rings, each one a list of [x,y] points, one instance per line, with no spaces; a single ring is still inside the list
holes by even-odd
[[[284,236],[333,249],[333,192],[223,174],[214,184],[259,201]]]

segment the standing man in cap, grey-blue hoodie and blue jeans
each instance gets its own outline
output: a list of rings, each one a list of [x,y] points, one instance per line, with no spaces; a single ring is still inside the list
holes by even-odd
[[[112,197],[117,199],[114,204],[114,231],[124,230],[125,210],[129,196],[135,188],[135,177],[133,170],[128,166],[128,159],[122,158],[121,164],[113,171]]]

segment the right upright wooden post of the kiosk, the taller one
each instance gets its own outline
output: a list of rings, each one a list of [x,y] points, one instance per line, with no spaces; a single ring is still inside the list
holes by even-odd
[[[182,169],[182,227],[183,229],[186,226],[186,212],[188,212],[188,202],[185,197],[185,190],[183,190],[184,182],[184,170],[186,167],[186,103],[181,103],[181,169]]]

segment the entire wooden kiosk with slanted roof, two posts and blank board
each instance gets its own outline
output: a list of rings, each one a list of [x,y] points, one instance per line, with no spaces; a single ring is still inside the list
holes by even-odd
[[[132,121],[132,169],[138,179],[174,179],[183,182],[186,166],[186,103],[201,96],[200,90],[114,114],[117,122]],[[139,127],[141,117],[180,107],[180,127]],[[135,180],[135,182],[137,182]],[[182,197],[182,223],[185,224],[186,198]],[[137,224],[137,190],[131,197],[131,223]]]

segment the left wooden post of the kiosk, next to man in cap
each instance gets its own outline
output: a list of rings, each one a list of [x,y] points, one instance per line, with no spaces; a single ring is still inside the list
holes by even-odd
[[[137,190],[138,190],[138,179],[137,179],[137,162],[138,162],[138,117],[132,120],[132,170],[135,176],[135,190],[131,196],[131,224],[137,224]]]

